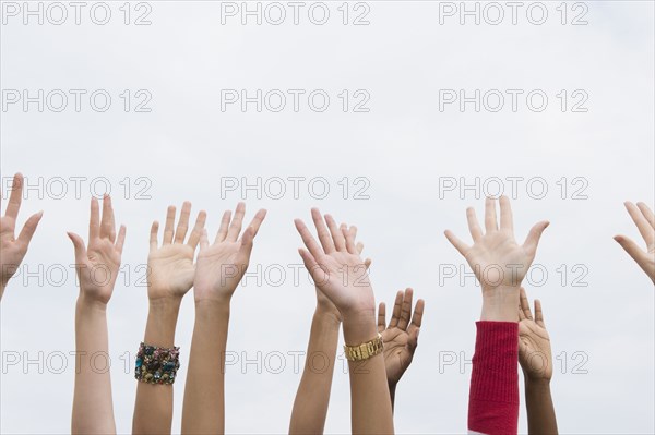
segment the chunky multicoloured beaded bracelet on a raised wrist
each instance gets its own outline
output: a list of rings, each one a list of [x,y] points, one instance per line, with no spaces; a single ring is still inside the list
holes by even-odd
[[[180,367],[180,348],[158,348],[141,342],[134,378],[146,384],[170,385]]]

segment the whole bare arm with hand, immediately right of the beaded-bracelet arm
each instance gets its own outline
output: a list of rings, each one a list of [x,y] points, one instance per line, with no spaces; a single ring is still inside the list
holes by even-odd
[[[226,212],[213,244],[206,231],[200,241],[193,281],[195,326],[184,387],[182,433],[225,432],[225,349],[229,304],[250,263],[254,237],[266,216],[259,210],[241,234],[246,206],[239,203],[230,222]],[[241,234],[241,237],[239,237]]]

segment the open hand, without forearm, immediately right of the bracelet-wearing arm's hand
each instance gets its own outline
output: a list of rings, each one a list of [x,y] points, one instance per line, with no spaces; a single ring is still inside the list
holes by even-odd
[[[229,301],[241,281],[250,263],[252,242],[266,210],[260,209],[239,237],[245,214],[243,203],[237,205],[234,219],[230,219],[230,212],[225,212],[213,244],[207,240],[206,230],[202,232],[193,282],[196,302],[206,299]]]

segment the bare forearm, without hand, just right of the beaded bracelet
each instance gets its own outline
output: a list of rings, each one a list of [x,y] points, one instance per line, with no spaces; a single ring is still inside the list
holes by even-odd
[[[195,325],[182,409],[183,434],[225,431],[225,350],[229,301],[195,303]]]

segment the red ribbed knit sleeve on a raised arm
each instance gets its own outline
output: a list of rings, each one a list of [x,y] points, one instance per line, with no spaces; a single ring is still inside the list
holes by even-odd
[[[476,322],[468,430],[487,435],[519,430],[519,324]]]

